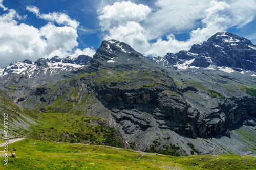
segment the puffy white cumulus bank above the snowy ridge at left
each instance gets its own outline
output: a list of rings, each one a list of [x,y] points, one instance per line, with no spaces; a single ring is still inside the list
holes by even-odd
[[[53,22],[49,22],[41,28],[35,28],[19,23],[21,19],[24,17],[18,15],[13,9],[0,15],[1,66],[9,65],[13,61],[25,59],[35,61],[38,58],[52,58],[55,55],[59,57],[77,57],[78,54],[93,56],[95,52],[93,48],[75,49],[78,46],[76,27],[68,24],[68,26],[57,27]]]

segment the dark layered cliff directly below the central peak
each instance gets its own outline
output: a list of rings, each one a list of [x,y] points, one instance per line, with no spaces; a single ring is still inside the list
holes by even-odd
[[[152,82],[152,87],[146,85],[148,79],[138,77],[152,74],[166,84]],[[129,82],[100,83],[92,86],[97,98],[112,111],[115,122],[122,126],[137,125],[137,128],[126,128],[125,133],[135,133],[136,129],[146,130],[158,126],[160,129],[170,129],[185,136],[194,137],[186,130],[188,105],[181,94],[177,93],[172,78],[159,72],[139,71]],[[152,119],[153,118],[153,119]]]

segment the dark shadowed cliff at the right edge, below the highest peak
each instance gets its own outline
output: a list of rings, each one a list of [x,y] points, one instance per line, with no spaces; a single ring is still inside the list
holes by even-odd
[[[216,100],[217,107],[203,106],[198,102],[200,101],[190,101],[192,106],[187,113],[187,122],[193,127],[197,137],[206,139],[216,135],[228,137],[230,136],[228,129],[232,126],[246,125],[250,119],[255,117],[256,98],[253,97],[223,97]],[[195,108],[196,103],[201,107]],[[203,107],[206,108],[203,109]]]

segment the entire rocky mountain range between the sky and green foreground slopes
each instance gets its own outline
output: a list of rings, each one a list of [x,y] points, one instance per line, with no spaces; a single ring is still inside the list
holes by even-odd
[[[255,155],[255,71],[256,46],[224,32],[154,58],[103,41],[93,58],[11,63],[0,70],[0,85],[38,114],[104,118],[127,148],[157,152],[177,145],[185,155],[193,143],[197,154]]]

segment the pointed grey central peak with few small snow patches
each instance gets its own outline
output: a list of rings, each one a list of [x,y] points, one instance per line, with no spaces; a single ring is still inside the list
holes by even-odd
[[[103,41],[97,49],[86,72],[118,68],[123,71],[161,70],[150,58],[135,51],[130,45],[117,40]]]

